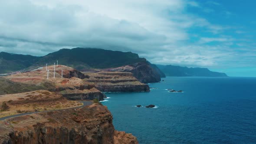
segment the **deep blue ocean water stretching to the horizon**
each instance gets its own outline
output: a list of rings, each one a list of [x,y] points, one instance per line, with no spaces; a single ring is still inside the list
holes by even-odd
[[[140,144],[256,143],[256,78],[163,79],[151,92],[106,93],[116,130]],[[135,107],[150,104],[158,108]]]

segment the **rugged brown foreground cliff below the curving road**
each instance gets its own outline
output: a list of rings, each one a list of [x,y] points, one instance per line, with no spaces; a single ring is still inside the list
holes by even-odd
[[[130,134],[115,132],[110,111],[100,104],[0,121],[0,144],[138,144],[136,141]]]

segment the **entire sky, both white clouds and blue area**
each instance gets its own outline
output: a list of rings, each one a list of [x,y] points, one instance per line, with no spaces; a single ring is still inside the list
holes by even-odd
[[[0,0],[0,52],[91,47],[256,76],[255,0]]]

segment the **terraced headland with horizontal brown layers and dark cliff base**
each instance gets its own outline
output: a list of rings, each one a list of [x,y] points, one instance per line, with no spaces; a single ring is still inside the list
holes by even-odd
[[[85,82],[95,85],[101,92],[149,92],[149,87],[130,72],[85,73]]]

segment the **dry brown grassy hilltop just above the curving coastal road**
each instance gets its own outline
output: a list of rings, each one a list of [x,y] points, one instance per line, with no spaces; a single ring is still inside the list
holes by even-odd
[[[0,119],[35,111],[49,111],[73,108],[82,105],[79,101],[69,101],[62,95],[46,90],[0,95]]]

